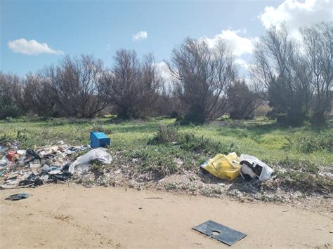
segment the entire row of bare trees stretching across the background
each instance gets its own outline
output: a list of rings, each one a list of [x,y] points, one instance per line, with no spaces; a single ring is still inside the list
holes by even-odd
[[[300,29],[273,27],[254,51],[251,82],[238,77],[233,51],[218,41],[185,39],[167,62],[172,82],[165,82],[152,54],[141,60],[135,51],[119,50],[113,67],[92,55],[66,56],[36,74],[0,73],[0,118],[20,114],[92,118],[107,108],[122,119],[174,116],[204,123],[223,114],[253,117],[267,100],[272,114],[288,125],[306,116],[325,123],[332,101],[332,23]],[[296,38],[295,38],[296,37]]]

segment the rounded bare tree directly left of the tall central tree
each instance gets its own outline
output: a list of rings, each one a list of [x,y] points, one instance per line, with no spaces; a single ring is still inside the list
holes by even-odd
[[[163,81],[151,54],[140,62],[135,51],[122,49],[115,55],[115,67],[103,74],[101,82],[117,116],[136,119],[151,111]]]

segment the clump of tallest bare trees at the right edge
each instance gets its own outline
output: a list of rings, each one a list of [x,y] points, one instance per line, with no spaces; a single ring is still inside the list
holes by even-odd
[[[285,25],[272,27],[256,46],[252,77],[268,92],[280,123],[300,126],[311,115],[313,124],[322,126],[332,100],[333,26],[318,23],[300,32],[298,41]]]

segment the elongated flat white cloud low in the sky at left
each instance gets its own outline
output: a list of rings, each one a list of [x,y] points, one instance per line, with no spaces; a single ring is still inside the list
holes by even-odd
[[[50,48],[46,43],[39,43],[36,40],[17,39],[8,41],[8,48],[15,53],[25,55],[39,55],[40,53],[50,53],[53,55],[63,55],[63,51]]]

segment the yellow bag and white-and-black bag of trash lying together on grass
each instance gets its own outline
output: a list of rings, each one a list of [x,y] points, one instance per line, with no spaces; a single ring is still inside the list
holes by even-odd
[[[272,168],[256,157],[246,154],[238,157],[235,152],[228,155],[217,154],[204,163],[201,168],[226,180],[234,180],[241,175],[244,180],[259,179],[262,181],[268,180],[274,172]]]

